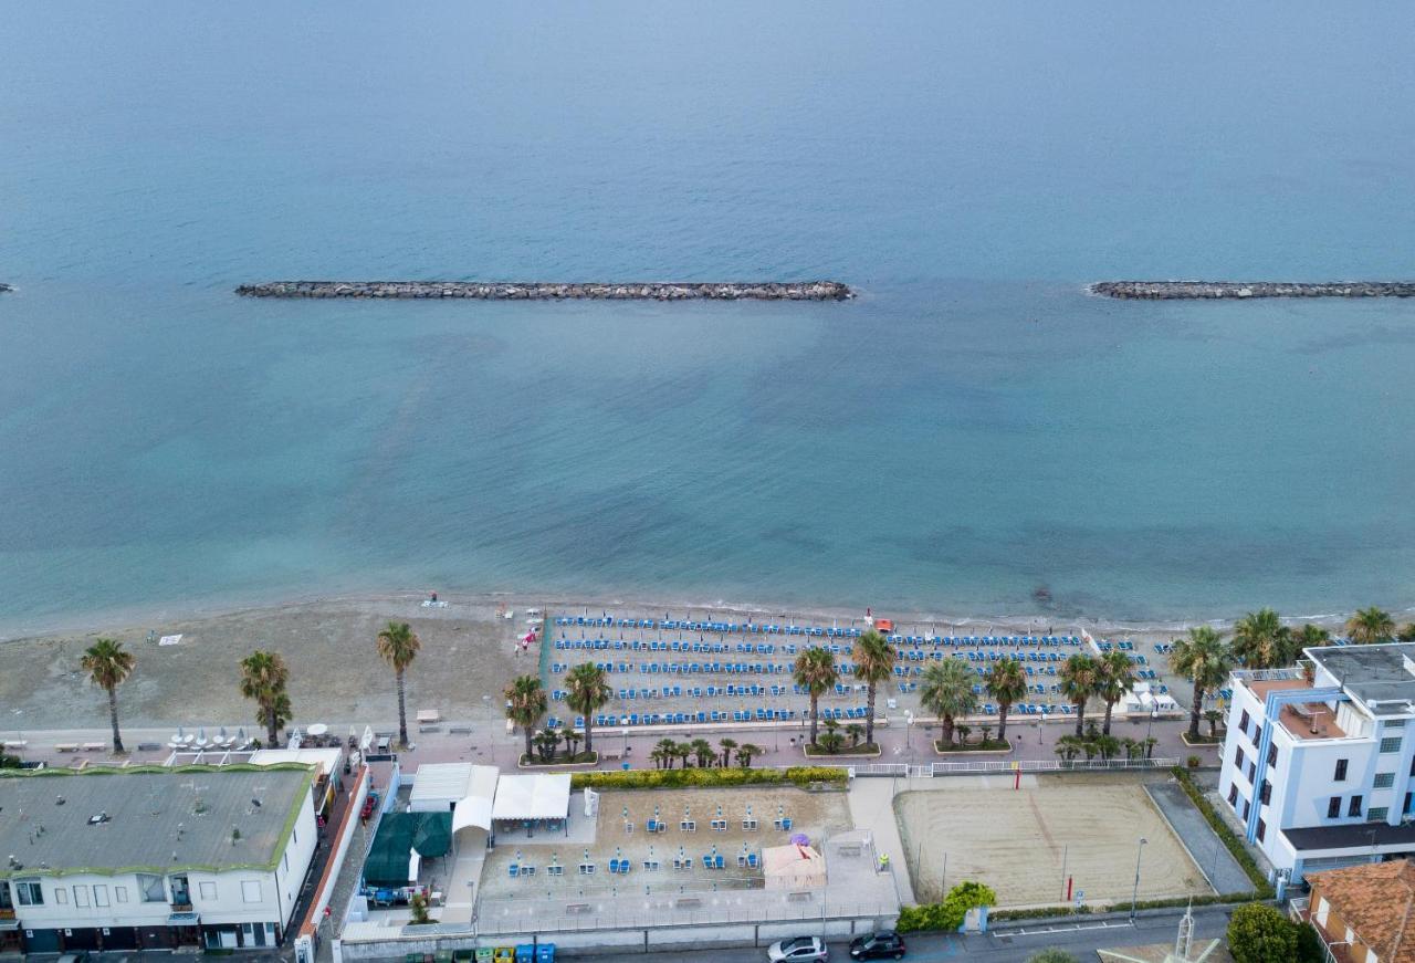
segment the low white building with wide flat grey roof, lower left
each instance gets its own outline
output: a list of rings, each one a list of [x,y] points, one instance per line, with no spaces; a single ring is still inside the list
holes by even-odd
[[[314,777],[294,765],[0,777],[0,949],[276,946],[314,857]]]

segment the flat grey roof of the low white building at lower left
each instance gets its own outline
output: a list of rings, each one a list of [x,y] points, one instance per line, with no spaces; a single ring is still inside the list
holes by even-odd
[[[314,782],[294,763],[11,772],[0,776],[0,878],[270,870]]]

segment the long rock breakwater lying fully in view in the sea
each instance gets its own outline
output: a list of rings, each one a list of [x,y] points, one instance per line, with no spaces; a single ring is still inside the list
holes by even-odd
[[[483,280],[272,280],[242,285],[246,297],[471,297],[477,300],[845,300],[838,280],[516,283]]]

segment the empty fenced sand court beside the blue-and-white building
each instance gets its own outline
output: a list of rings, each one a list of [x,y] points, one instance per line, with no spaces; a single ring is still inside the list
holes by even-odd
[[[1023,776],[1012,786],[1012,776],[949,776],[894,799],[920,902],[978,879],[1000,906],[1058,904],[1071,877],[1073,899],[1084,891],[1087,904],[1128,905],[1142,837],[1140,899],[1213,892],[1140,779]]]

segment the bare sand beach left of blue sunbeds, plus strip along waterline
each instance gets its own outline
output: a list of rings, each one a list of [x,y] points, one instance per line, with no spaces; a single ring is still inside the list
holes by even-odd
[[[757,606],[652,605],[631,600],[572,600],[501,596],[443,596],[444,606],[427,608],[416,592],[303,599],[224,613],[167,615],[140,623],[130,616],[109,625],[16,637],[0,642],[6,671],[0,673],[0,728],[85,728],[108,721],[102,694],[79,668],[79,657],[93,639],[119,639],[137,654],[137,668],[119,690],[122,721],[130,726],[248,724],[250,704],[236,690],[238,661],[253,649],[273,649],[290,666],[290,698],[296,724],[374,722],[395,719],[393,680],[375,653],[378,630],[389,620],[409,622],[423,643],[408,674],[409,715],[437,708],[444,719],[497,722],[502,719],[499,693],[516,674],[538,670],[538,651],[521,651],[526,609],[552,613],[594,613],[675,617],[709,613],[758,619],[791,619],[816,625],[859,625],[863,612],[767,609]],[[498,613],[512,610],[512,619]],[[941,619],[927,613],[877,612],[891,616],[903,632],[1043,632],[1046,616],[1033,619]],[[1054,623],[1057,632],[1085,629],[1098,637],[1138,643],[1172,639],[1183,626],[1125,626]],[[181,634],[174,646],[147,640]],[[1176,691],[1184,701],[1184,691]],[[200,707],[200,708],[198,708]],[[201,718],[195,718],[195,717]]]

